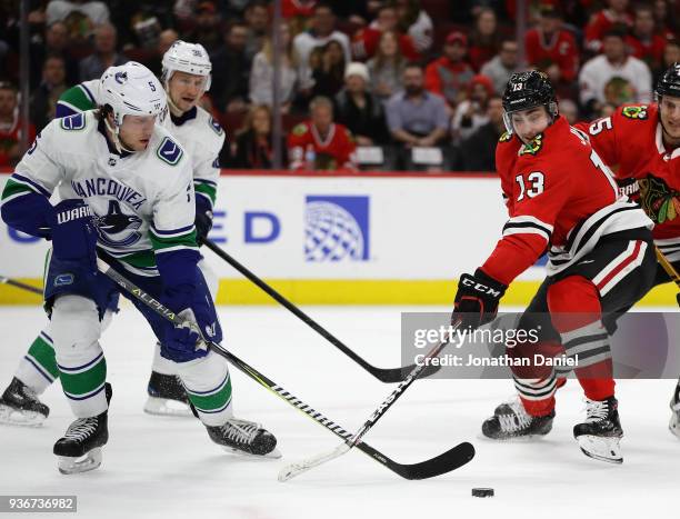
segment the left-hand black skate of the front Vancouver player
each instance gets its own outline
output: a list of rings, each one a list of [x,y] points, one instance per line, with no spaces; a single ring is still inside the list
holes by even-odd
[[[111,385],[104,387],[107,402],[111,401]],[[53,452],[59,458],[61,473],[94,470],[101,465],[101,448],[109,441],[108,411],[96,417],[78,418],[57,440]]]

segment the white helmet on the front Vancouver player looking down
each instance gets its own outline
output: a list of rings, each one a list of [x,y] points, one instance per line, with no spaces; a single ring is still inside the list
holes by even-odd
[[[109,67],[101,77],[100,102],[113,113],[118,133],[126,116],[160,116],[168,110],[166,91],[153,72],[137,61]]]

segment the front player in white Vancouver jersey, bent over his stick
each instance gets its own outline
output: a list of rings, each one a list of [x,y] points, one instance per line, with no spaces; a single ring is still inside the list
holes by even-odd
[[[9,226],[52,243],[46,308],[59,379],[77,418],[54,445],[59,469],[99,467],[108,440],[111,388],[99,337],[119,289],[97,273],[96,253],[191,323],[176,328],[132,301],[163,358],[177,365],[209,437],[228,450],[280,456],[273,435],[233,418],[227,362],[202,343],[202,335],[219,342],[222,332],[198,268],[191,160],[159,123],[163,88],[146,67],[129,62],[107,70],[101,94],[101,109],[42,130],[8,180],[0,209]],[[56,206],[53,192],[61,200]]]

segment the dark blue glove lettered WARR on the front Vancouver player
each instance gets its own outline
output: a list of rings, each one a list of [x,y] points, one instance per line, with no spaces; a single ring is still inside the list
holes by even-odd
[[[52,253],[60,261],[97,273],[97,229],[89,206],[80,199],[59,202],[51,214]]]

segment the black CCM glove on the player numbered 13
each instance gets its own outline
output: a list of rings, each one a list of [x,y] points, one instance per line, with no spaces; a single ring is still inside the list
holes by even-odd
[[[451,322],[460,320],[462,328],[474,329],[492,321],[507,288],[480,269],[474,271],[474,276],[462,275],[458,282]]]

